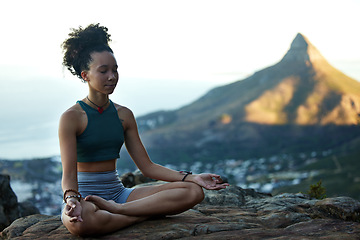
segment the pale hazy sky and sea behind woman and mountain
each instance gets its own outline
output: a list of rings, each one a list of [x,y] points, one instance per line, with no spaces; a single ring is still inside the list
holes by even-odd
[[[173,110],[277,63],[297,33],[360,81],[360,0],[12,0],[0,9],[0,158],[59,155],[61,114],[87,85],[62,67],[71,28],[108,27],[135,116]]]

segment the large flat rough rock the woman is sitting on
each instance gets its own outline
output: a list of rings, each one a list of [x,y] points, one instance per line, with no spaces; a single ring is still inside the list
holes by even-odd
[[[359,239],[360,202],[349,197],[309,199],[269,196],[230,186],[205,191],[203,203],[182,214],[154,218],[100,239]],[[82,239],[60,216],[31,215],[14,221],[2,239]],[[87,238],[87,239],[99,239]]]

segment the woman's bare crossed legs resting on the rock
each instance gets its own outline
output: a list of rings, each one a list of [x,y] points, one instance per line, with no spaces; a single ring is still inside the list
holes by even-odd
[[[63,215],[64,225],[76,235],[106,234],[144,221],[150,216],[184,212],[203,198],[202,188],[190,182],[139,187],[123,204],[88,196],[86,201],[81,201],[84,221],[70,222],[68,216]]]

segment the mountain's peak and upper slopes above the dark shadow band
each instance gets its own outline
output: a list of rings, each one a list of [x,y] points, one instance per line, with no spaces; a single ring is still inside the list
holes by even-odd
[[[279,63],[211,90],[176,110],[172,119],[164,115],[155,129],[195,129],[219,120],[223,124],[349,125],[358,124],[359,113],[360,83],[331,66],[298,34]]]

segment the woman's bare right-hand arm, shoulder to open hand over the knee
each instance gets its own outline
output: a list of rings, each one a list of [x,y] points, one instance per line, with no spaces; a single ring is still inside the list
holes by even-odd
[[[125,129],[124,135],[126,148],[143,175],[152,179],[167,182],[181,181],[184,177],[182,173],[153,163],[150,160],[150,157],[139,137],[133,113],[129,109],[124,108],[121,115],[125,119],[123,124]],[[228,186],[228,184],[223,183],[221,177],[216,174],[188,175],[185,180],[194,182],[206,189],[212,190],[222,189]]]

